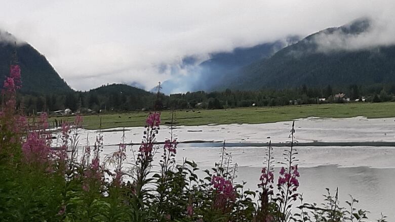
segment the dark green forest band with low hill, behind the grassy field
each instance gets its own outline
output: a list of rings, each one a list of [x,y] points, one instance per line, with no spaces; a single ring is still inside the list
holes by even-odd
[[[343,98],[335,98],[344,93]],[[366,99],[365,102],[392,101],[395,84],[373,84],[370,86],[349,85],[344,88],[300,87],[287,89],[262,89],[258,91],[225,90],[204,91],[185,94],[149,93],[125,84],[103,85],[88,92],[66,94],[18,95],[18,104],[26,114],[69,108],[72,112],[127,112],[153,109],[222,109],[249,106],[284,106],[317,103],[345,103]],[[325,101],[319,101],[325,98]],[[349,98],[350,101],[346,101]]]

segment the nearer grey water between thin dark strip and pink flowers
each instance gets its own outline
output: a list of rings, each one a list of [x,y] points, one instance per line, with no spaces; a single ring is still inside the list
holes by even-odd
[[[274,148],[276,160],[286,148]],[[299,192],[305,202],[322,203],[322,194],[329,188],[333,194],[339,188],[341,206],[347,206],[349,194],[360,202],[357,208],[371,211],[370,219],[383,212],[388,221],[395,220],[392,184],[395,175],[395,149],[390,147],[309,147],[297,148],[300,159]],[[211,168],[218,161],[220,148],[179,149],[178,157],[193,159],[201,169]],[[233,161],[240,164],[236,181],[247,182],[246,187],[256,189],[264,151],[262,148],[227,148]],[[279,169],[276,169],[279,172]],[[299,204],[299,201],[296,202]]]

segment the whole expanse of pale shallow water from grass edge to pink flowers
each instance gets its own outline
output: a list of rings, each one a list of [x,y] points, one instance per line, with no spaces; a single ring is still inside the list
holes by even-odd
[[[354,118],[307,118],[297,119],[296,139],[299,142],[395,142],[395,118],[366,119]],[[248,143],[286,143],[292,122],[277,122],[265,124],[229,124],[206,126],[178,126],[174,129],[178,141],[205,140],[223,141],[229,143],[246,143],[244,147],[227,147],[233,156],[233,161],[239,164],[236,181],[247,182],[247,188],[256,189],[260,176],[263,157],[266,148],[249,147]],[[120,128],[118,128],[120,129]],[[126,142],[141,141],[143,127],[125,129]],[[169,130],[162,127],[157,141],[169,138]],[[97,131],[83,130],[81,145],[88,138],[92,145]],[[122,131],[103,132],[104,155],[117,149]],[[111,146],[112,145],[112,146]],[[134,150],[138,146],[133,147]],[[273,155],[276,162],[282,160],[282,153],[287,147],[274,147]],[[128,148],[131,161],[131,147]],[[339,198],[342,206],[349,200],[348,194],[360,203],[361,207],[371,211],[371,220],[378,218],[380,212],[388,216],[388,221],[395,221],[393,200],[395,192],[392,184],[395,181],[395,149],[392,147],[297,147],[300,167],[300,189],[305,202],[323,201],[325,188],[335,191],[339,188]],[[198,163],[199,168],[207,169],[219,161],[221,148],[217,145],[205,146],[180,144],[177,160],[188,158]],[[103,156],[104,156],[103,155]],[[204,175],[204,174],[202,174]]]

